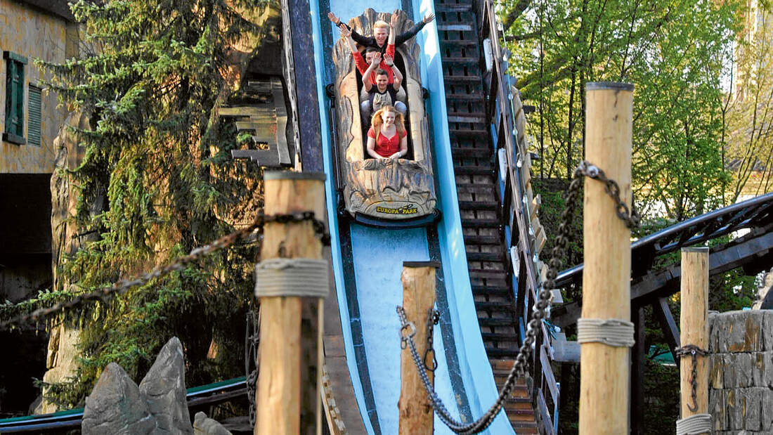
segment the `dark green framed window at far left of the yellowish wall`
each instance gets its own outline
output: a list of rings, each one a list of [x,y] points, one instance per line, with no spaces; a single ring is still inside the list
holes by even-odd
[[[5,59],[5,131],[2,140],[23,145],[24,140],[24,66],[27,58],[9,51]]]

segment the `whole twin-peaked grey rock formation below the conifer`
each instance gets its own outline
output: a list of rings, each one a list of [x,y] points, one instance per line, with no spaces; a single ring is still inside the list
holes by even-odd
[[[139,387],[120,365],[107,365],[86,399],[81,430],[84,435],[193,433],[179,339],[164,345]]]

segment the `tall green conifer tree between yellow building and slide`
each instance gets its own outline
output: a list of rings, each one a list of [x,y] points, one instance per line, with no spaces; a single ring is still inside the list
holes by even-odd
[[[91,236],[60,259],[57,287],[29,304],[53,304],[169,263],[233,231],[234,207],[257,209],[243,206],[253,198],[244,180],[259,174],[228,158],[237,146],[235,130],[213,109],[232,93],[230,46],[254,30],[240,12],[264,6],[221,0],[72,5],[86,30],[86,55],[39,64],[53,71],[49,86],[70,109],[90,114],[91,130],[79,131],[83,161],[69,176],[77,187],[73,224]],[[216,253],[68,314],[67,322],[83,328],[81,366],[73,382],[52,390],[52,399],[82,403],[108,362],[141,378],[172,335],[185,347],[189,385],[239,374],[229,358],[243,355],[238,321],[251,301],[254,257],[254,247]],[[221,345],[216,360],[207,359],[213,338]]]

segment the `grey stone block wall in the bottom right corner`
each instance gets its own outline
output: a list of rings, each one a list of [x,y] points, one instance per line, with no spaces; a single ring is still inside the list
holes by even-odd
[[[773,311],[709,314],[715,434],[773,433]]]

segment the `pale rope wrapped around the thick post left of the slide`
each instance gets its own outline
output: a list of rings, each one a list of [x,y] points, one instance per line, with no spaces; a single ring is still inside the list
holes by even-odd
[[[255,296],[327,297],[329,266],[312,258],[271,258],[255,266]]]

